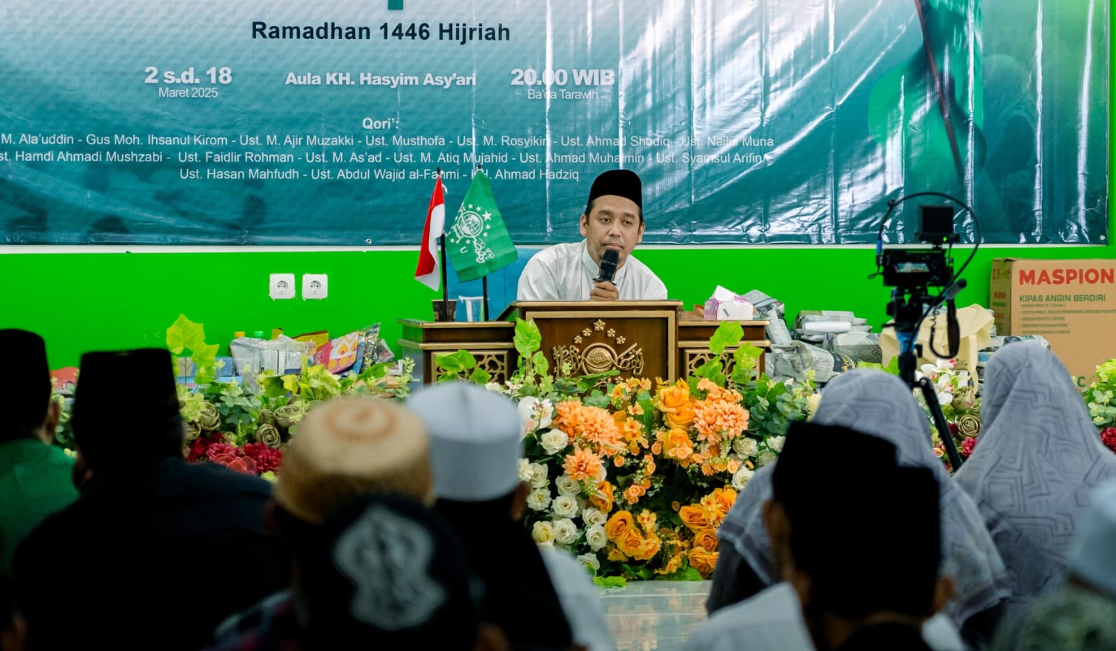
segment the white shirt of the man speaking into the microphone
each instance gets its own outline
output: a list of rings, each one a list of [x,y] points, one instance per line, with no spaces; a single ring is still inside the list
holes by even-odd
[[[547,247],[535,253],[519,277],[518,300],[588,300],[600,267],[585,240]],[[628,256],[613,285],[620,300],[666,300],[666,285],[646,265]]]

